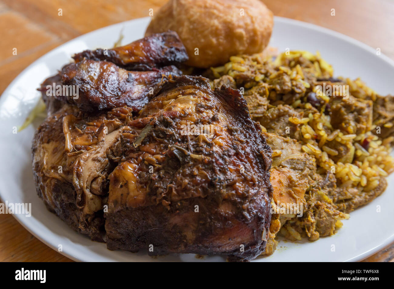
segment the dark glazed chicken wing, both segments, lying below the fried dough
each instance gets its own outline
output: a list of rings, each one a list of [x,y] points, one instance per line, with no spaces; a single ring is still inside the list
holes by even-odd
[[[39,88],[48,114],[65,103],[77,105],[84,112],[124,105],[138,112],[163,75],[182,74],[175,64],[186,61],[188,55],[177,33],[168,31],[110,50],[85,50],[74,59],[75,63],[65,65]],[[48,85],[56,88],[56,94],[46,94]],[[69,93],[71,90],[77,93]]]

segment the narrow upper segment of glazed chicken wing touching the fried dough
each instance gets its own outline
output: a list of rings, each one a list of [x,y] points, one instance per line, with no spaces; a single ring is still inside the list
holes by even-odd
[[[152,70],[189,59],[186,48],[174,31],[152,34],[112,49],[85,50],[74,55],[75,62],[84,59],[109,61],[126,70]]]

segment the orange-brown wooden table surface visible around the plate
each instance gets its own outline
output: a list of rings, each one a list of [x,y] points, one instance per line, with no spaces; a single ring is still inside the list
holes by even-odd
[[[148,16],[166,0],[0,0],[0,93],[35,59],[89,31]],[[265,0],[277,16],[349,35],[394,59],[394,2],[390,0]],[[94,3],[94,4],[93,4]],[[62,16],[58,15],[62,9]],[[331,16],[335,9],[335,16]],[[17,48],[17,55],[13,55]],[[386,192],[392,193],[392,192]],[[394,243],[367,261],[393,261]],[[71,261],[0,214],[0,261]]]

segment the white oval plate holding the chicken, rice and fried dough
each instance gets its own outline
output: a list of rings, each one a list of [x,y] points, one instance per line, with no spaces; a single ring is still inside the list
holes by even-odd
[[[32,216],[14,215],[29,232],[61,254],[79,261],[223,261],[222,257],[196,259],[193,254],[151,258],[145,252],[133,254],[110,251],[103,243],[74,232],[63,221],[46,210],[37,197],[33,183],[31,152],[37,121],[13,134],[13,127],[22,125],[40,97],[36,88],[48,76],[56,73],[71,55],[85,49],[110,48],[121,29],[123,44],[143,37],[149,18],[140,18],[108,26],[71,40],[47,53],[26,68],[9,85],[0,98],[0,197],[3,202],[31,203]],[[280,51],[320,51],[333,64],[335,75],[361,77],[380,94],[394,93],[392,86],[394,61],[377,55],[375,48],[329,29],[312,24],[275,17],[271,46]],[[351,213],[349,220],[334,236],[316,242],[291,243],[281,241],[276,252],[255,261],[357,261],[377,252],[394,241],[394,176],[388,178],[387,190],[370,204]],[[377,212],[380,206],[381,212]],[[5,232],[3,232],[4,234]],[[335,251],[332,250],[335,245]]]

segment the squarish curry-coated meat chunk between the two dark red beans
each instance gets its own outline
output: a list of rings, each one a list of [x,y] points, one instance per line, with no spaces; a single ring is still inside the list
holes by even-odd
[[[332,96],[331,125],[340,129],[344,134],[362,134],[372,127],[372,101],[354,96],[345,99],[342,96]]]

